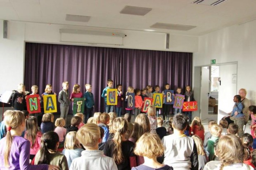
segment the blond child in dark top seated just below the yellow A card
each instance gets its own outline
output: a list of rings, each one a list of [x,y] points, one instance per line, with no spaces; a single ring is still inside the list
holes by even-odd
[[[40,129],[42,133],[50,132],[54,130],[54,115],[52,113],[43,114],[42,123]]]

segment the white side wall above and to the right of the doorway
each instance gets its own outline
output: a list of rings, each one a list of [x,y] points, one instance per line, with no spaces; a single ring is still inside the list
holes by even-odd
[[[237,61],[237,91],[247,89],[247,98],[256,103],[256,20],[202,35],[199,51],[193,55],[194,66]],[[237,92],[238,93],[238,92]]]

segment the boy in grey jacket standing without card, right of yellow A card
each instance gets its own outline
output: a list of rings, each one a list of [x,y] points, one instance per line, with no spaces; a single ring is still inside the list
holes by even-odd
[[[66,117],[69,113],[69,82],[62,83],[62,91],[59,92],[58,101],[60,103],[60,117],[64,118],[66,122]]]

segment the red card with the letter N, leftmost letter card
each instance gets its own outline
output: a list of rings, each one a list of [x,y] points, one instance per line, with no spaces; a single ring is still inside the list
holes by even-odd
[[[26,104],[29,114],[41,113],[40,100],[38,94],[27,95]]]

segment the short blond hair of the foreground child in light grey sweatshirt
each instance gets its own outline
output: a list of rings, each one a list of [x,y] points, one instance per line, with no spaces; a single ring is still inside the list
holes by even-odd
[[[76,138],[85,147],[93,149],[100,143],[100,127],[95,123],[86,123],[76,133]]]

